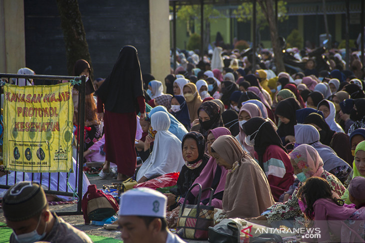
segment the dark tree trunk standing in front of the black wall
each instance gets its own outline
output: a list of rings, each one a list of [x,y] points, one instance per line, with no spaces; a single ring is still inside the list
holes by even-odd
[[[91,58],[77,0],[56,0],[56,2],[66,46],[68,75],[72,75],[75,62],[78,59],[84,59],[90,64],[90,77],[92,78]]]

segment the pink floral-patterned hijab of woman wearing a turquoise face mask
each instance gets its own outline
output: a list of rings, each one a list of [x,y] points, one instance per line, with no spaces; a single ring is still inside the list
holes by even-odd
[[[323,173],[323,161],[318,152],[308,144],[301,144],[289,154],[290,159],[301,169],[306,178],[320,177]]]

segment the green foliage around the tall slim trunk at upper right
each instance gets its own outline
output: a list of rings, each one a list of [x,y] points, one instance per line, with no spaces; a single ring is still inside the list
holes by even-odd
[[[282,22],[288,18],[286,15],[287,10],[285,1],[277,1],[277,12],[277,20],[279,22]],[[243,2],[236,10],[233,11],[233,14],[236,15],[237,21],[246,22],[252,20],[252,2]],[[260,4],[256,4],[256,24],[260,30],[268,25],[264,11],[262,11]]]

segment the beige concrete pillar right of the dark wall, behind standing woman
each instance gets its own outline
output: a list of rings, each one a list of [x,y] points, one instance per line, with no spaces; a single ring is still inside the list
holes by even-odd
[[[164,83],[170,73],[170,28],[168,0],[149,0],[151,74]],[[164,86],[164,90],[166,87]]]

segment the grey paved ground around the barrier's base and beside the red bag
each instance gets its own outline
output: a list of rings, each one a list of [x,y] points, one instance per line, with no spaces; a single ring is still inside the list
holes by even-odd
[[[95,184],[97,189],[101,189],[102,185],[111,185],[112,182],[115,182],[114,179],[106,179],[102,180],[98,176],[89,177],[90,184]],[[54,205],[50,206],[50,210],[52,212],[68,212],[68,211],[76,211],[77,204],[67,204],[67,205]],[[62,216],[62,219],[74,226],[75,228],[85,232],[89,235],[94,236],[103,236],[103,237],[110,237],[114,239],[121,240],[120,232],[119,231],[108,231],[104,230],[102,226],[94,226],[94,225],[85,225],[82,215],[76,216]],[[2,214],[2,210],[0,209],[0,222],[5,222],[5,219]],[[204,241],[190,241],[187,240],[186,242],[189,243],[202,243]],[[205,241],[207,242],[207,241]]]

